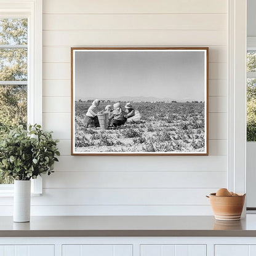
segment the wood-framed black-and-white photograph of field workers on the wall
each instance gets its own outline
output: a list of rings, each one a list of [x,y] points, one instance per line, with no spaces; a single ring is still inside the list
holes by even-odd
[[[208,47],[71,48],[72,155],[208,155]]]

